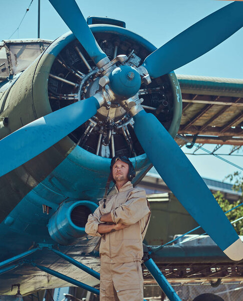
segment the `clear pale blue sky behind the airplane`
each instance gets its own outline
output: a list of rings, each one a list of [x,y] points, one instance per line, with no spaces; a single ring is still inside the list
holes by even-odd
[[[0,0],[0,41],[9,39],[18,28],[31,0]],[[220,0],[77,0],[85,18],[100,16],[122,20],[126,28],[141,35],[156,47],[160,47],[174,36],[214,11],[230,4]],[[243,4],[242,4],[243,5]],[[19,30],[11,39],[37,38],[38,0],[33,0]],[[233,16],[232,16],[233,20]],[[40,37],[54,40],[69,31],[48,0],[41,0]],[[193,43],[193,41],[191,41]],[[176,74],[199,75],[225,78],[243,78],[243,29],[218,45],[216,48],[175,70]],[[179,55],[179,54],[178,54]],[[203,146],[212,150],[215,145]],[[222,146],[216,154],[227,153],[232,146]],[[183,147],[184,152],[194,148]],[[205,154],[204,152],[197,152]],[[242,155],[240,150],[236,155]],[[235,167],[213,156],[192,156],[189,160],[198,173],[205,178],[222,181],[235,171]],[[224,156],[230,162],[243,167],[243,157]]]

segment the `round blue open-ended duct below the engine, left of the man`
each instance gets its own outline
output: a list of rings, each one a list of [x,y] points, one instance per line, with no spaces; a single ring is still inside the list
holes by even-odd
[[[85,235],[85,224],[89,214],[98,206],[91,201],[63,203],[48,224],[49,234],[61,245],[69,245]]]

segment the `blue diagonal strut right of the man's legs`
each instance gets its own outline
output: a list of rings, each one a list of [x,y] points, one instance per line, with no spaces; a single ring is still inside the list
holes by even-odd
[[[170,285],[170,283],[159,270],[152,258],[149,258],[147,261],[145,261],[144,265],[149,270],[154,279],[157,281],[158,285],[170,301],[181,301],[181,298],[177,295],[174,288]]]

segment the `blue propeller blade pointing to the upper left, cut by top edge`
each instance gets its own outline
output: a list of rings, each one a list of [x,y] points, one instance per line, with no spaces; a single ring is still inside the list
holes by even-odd
[[[95,64],[107,58],[95,40],[75,0],[49,0]],[[108,59],[108,58],[107,58]]]

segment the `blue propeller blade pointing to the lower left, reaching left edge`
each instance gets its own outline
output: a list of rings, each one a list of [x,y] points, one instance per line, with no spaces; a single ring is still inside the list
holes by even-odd
[[[92,96],[34,120],[0,140],[0,177],[61,140],[94,116],[99,107]]]

